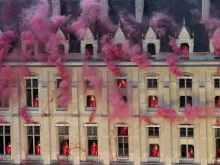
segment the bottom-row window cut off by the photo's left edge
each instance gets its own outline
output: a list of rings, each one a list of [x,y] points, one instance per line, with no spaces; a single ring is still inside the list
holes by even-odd
[[[10,126],[0,126],[0,154],[11,154]]]

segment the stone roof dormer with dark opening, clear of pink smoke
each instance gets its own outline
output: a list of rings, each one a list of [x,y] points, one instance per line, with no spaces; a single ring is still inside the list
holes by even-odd
[[[152,27],[150,21],[150,26],[147,32],[143,35],[143,50],[148,51],[151,55],[157,55],[160,51],[160,39]]]

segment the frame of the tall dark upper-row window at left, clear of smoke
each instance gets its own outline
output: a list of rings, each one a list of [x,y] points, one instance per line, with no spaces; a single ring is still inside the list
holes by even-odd
[[[33,87],[33,80],[36,79],[37,80],[37,88],[36,87]],[[30,76],[30,77],[24,77],[24,88],[25,88],[25,101],[26,101],[26,105],[27,105],[27,108],[28,109],[38,109],[39,108],[39,78],[38,76]],[[27,80],[31,80],[31,87],[27,87]],[[27,100],[27,89],[31,89],[31,106],[28,106],[28,100]],[[38,96],[38,106],[37,107],[34,107],[34,92],[33,90],[34,89],[37,89],[37,96]]]

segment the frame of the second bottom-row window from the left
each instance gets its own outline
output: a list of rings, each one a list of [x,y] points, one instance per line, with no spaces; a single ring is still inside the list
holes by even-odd
[[[36,148],[35,138],[39,137],[39,141],[40,141],[40,125],[33,124],[33,125],[26,125],[26,127],[27,127],[26,129],[27,129],[27,150],[28,150],[28,155],[41,155],[41,154],[36,154],[36,151],[35,151],[35,148]],[[35,127],[39,128],[39,134],[35,134]],[[31,134],[28,133],[29,128],[32,128],[32,133]],[[29,146],[30,144],[29,144],[29,141],[28,141],[29,137],[31,137],[31,141],[33,143],[33,148],[32,148],[33,154],[29,153],[29,147],[30,147]]]

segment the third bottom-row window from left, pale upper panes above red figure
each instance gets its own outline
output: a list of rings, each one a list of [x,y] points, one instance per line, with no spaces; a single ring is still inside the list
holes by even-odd
[[[69,127],[58,127],[59,152],[60,155],[69,155]]]

